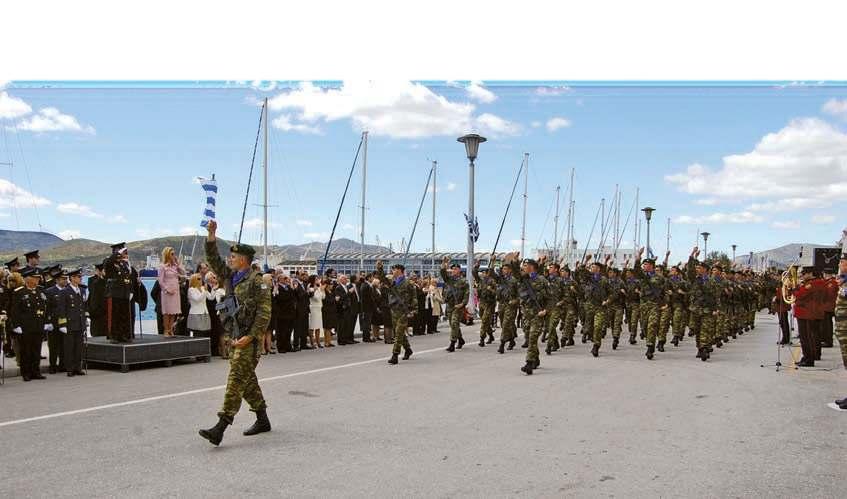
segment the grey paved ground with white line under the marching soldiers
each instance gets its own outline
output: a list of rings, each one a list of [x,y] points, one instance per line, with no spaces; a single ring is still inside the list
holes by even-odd
[[[653,362],[642,345],[608,342],[595,359],[579,344],[543,356],[531,377],[520,348],[498,355],[469,341],[448,354],[444,333],[414,338],[400,366],[385,363],[382,343],[267,356],[274,430],[243,437],[243,410],[218,448],[197,429],[216,420],[223,361],[16,378],[0,388],[1,487],[6,497],[844,497],[847,413],[826,403],[847,395],[847,371],[837,348],[820,363],[832,371],[760,367],[776,338],[760,316],[708,363],[690,338]]]

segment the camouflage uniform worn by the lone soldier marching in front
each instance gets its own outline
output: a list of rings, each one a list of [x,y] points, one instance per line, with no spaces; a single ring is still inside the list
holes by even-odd
[[[250,345],[233,348],[230,354],[226,393],[218,416],[232,423],[232,418],[241,408],[242,399],[247,401],[251,411],[267,408],[256,378],[256,366],[259,364],[259,344],[271,319],[271,290],[262,282],[259,272],[251,269],[244,275],[237,275],[227,267],[218,253],[215,241],[206,242],[206,261],[220,282],[224,283],[226,294],[235,295],[239,306],[235,322],[238,323],[240,335],[252,338]],[[227,335],[233,336],[233,327],[234,321],[231,318],[224,320],[223,328]]]

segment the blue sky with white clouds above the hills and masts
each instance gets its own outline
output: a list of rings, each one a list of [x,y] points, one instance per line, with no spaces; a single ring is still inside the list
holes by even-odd
[[[265,98],[272,244],[329,238],[363,130],[365,239],[395,250],[410,237],[432,160],[436,249],[466,248],[469,168],[456,138],[471,131],[488,139],[475,168],[481,251],[494,246],[524,152],[529,251],[556,239],[557,185],[564,239],[572,168],[580,247],[589,234],[599,244],[593,221],[616,185],[621,245],[633,244],[636,215],[626,219],[638,188],[639,205],[656,209],[656,253],[671,219],[672,260],[685,258],[698,232],[711,233],[710,250],[729,254],[736,244],[744,254],[831,244],[845,226],[844,83],[12,81],[0,82],[0,228],[107,242],[202,233],[195,179],[214,173],[220,235],[231,238]],[[243,238],[254,244],[262,152],[260,141]],[[359,238],[362,163],[336,237]],[[520,247],[522,189],[523,179],[498,251]],[[412,251],[431,247],[430,196]]]

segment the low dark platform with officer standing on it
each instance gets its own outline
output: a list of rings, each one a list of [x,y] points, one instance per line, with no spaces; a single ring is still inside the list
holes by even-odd
[[[129,372],[131,365],[163,362],[170,366],[175,360],[209,362],[211,357],[209,338],[146,334],[136,335],[132,343],[110,343],[104,337],[87,341],[84,357],[89,364],[118,365],[124,373]]]

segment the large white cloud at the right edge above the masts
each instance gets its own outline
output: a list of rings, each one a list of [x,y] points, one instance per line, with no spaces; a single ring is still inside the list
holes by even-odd
[[[795,119],[765,135],[752,151],[725,156],[718,170],[692,164],[665,181],[720,200],[828,205],[847,195],[847,134],[816,118]]]

